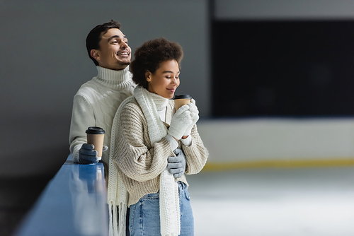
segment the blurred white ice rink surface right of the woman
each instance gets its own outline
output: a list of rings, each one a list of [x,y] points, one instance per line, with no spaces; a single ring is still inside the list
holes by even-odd
[[[353,236],[354,167],[187,177],[195,236]]]

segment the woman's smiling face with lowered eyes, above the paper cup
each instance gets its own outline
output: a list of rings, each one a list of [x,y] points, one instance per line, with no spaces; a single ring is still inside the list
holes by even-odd
[[[154,73],[147,71],[147,90],[164,98],[173,98],[179,85],[179,66],[176,60],[162,61]]]

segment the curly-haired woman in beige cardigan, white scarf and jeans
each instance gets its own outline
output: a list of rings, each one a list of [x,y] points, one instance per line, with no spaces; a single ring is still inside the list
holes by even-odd
[[[139,47],[130,66],[137,88],[115,115],[108,203],[113,222],[115,205],[120,206],[120,219],[125,219],[125,204],[130,207],[130,235],[194,232],[185,175],[174,177],[166,169],[170,157],[185,155],[185,174],[196,174],[208,155],[195,125],[199,117],[194,100],[177,111],[170,100],[180,83],[182,58],[181,46],[163,38]],[[124,221],[119,223],[122,235]]]

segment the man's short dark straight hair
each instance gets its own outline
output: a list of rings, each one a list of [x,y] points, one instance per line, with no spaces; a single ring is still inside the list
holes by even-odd
[[[112,28],[118,28],[120,30],[120,23],[115,20],[110,20],[110,22],[104,23],[102,25],[97,25],[95,28],[93,28],[89,35],[86,37],[86,49],[87,52],[89,53],[89,57],[91,60],[95,63],[96,66],[98,66],[98,61],[93,59],[91,57],[91,50],[92,49],[100,49],[99,42],[101,41],[101,35],[104,35],[107,33],[109,29]]]

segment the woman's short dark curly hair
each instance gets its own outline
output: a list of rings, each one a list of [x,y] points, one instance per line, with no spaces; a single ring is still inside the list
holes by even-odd
[[[177,42],[171,42],[161,37],[144,42],[142,46],[135,50],[134,57],[134,61],[130,64],[130,71],[133,74],[132,80],[137,85],[147,88],[146,72],[155,73],[161,62],[174,59],[181,69],[183,49]]]

